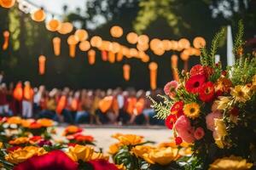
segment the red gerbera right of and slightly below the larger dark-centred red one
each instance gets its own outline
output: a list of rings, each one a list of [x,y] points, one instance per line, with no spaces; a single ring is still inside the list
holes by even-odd
[[[214,98],[214,84],[212,82],[205,83],[200,92],[199,99],[204,102],[210,102]]]

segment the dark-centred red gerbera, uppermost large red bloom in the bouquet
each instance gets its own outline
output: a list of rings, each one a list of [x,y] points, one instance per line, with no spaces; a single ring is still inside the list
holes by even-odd
[[[197,94],[201,86],[206,82],[206,77],[204,75],[195,75],[190,77],[185,83],[185,88],[189,93]]]

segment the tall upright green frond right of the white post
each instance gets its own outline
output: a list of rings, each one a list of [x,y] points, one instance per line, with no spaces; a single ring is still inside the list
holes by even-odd
[[[239,20],[238,31],[236,33],[236,39],[233,47],[233,54],[235,55],[238,54],[238,50],[240,50],[240,48],[244,44],[244,41],[242,40],[243,34],[244,34],[244,26],[243,26],[242,20]]]

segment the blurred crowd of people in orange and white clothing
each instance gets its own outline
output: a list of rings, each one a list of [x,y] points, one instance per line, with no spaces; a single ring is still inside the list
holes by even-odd
[[[32,88],[30,82],[1,83],[0,116],[46,117],[75,124],[162,124],[154,118],[146,97],[155,94],[160,92],[133,88],[47,90],[44,86]]]

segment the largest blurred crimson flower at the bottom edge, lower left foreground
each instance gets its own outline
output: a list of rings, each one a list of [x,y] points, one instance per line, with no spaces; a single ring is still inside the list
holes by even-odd
[[[78,166],[61,150],[53,150],[43,156],[32,156],[18,164],[14,170],[77,170]]]

